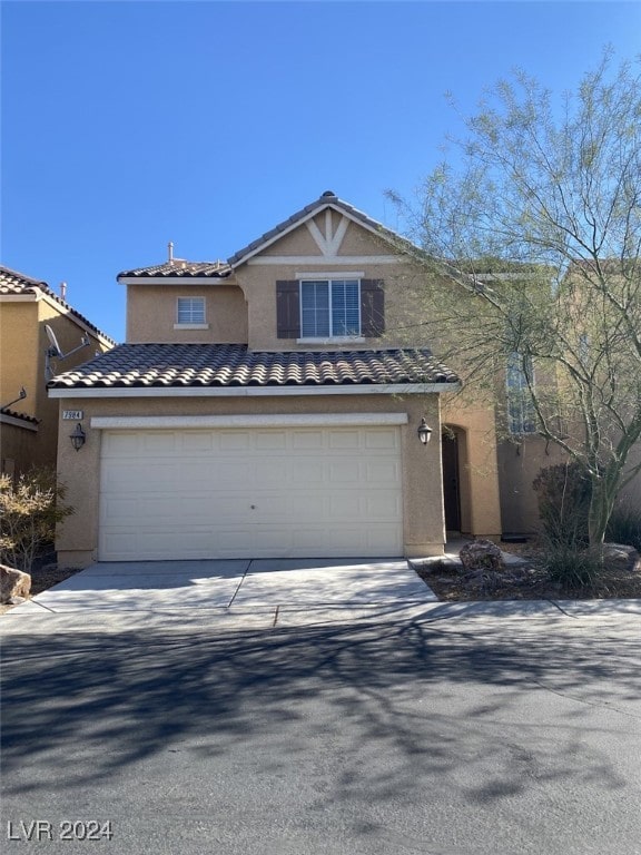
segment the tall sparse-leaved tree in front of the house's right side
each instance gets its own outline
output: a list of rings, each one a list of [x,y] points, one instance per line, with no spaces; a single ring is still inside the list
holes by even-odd
[[[469,387],[519,372],[534,430],[591,481],[599,544],[641,468],[639,66],[607,52],[558,104],[516,72],[466,128],[417,202],[388,194],[425,252],[415,261],[451,283],[424,288],[426,324]]]

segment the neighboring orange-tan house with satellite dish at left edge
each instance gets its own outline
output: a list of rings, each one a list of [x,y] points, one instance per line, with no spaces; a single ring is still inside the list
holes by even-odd
[[[48,326],[63,354],[47,355]],[[81,340],[88,345],[79,347]],[[46,282],[0,267],[0,465],[11,475],[32,465],[55,466],[58,402],[47,395],[46,368],[72,367],[115,342],[82,317]],[[69,432],[75,423],[66,425]]]

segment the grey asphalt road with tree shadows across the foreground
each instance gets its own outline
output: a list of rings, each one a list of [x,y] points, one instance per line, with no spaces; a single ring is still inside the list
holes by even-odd
[[[640,629],[434,617],[12,635],[0,846],[641,853]]]

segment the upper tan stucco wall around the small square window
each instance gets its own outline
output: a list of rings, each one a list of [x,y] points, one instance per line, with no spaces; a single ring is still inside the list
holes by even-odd
[[[205,297],[207,330],[174,328],[177,297]],[[245,296],[234,285],[128,285],[127,341],[245,344]]]

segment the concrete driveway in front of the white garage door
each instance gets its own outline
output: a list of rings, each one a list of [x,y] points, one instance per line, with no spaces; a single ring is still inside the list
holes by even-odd
[[[49,628],[186,623],[274,627],[435,602],[405,560],[263,559],[97,563],[3,616]]]

